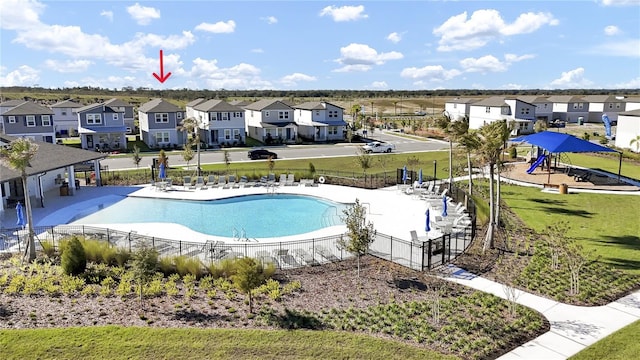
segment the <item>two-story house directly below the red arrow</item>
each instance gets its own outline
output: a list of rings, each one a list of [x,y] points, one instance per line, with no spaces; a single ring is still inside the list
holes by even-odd
[[[149,147],[184,145],[185,136],[178,130],[184,111],[163,99],[153,99],[138,108],[141,140]]]

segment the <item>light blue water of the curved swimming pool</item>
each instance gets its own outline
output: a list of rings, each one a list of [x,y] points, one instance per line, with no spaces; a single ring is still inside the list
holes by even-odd
[[[303,195],[247,195],[210,201],[127,197],[70,223],[176,223],[204,234],[248,238],[307,233],[343,224],[347,205]],[[86,216],[85,216],[86,215]]]

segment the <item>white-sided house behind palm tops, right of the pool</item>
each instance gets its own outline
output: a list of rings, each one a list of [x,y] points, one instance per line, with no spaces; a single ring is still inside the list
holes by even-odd
[[[483,125],[497,121],[515,121],[516,134],[533,133],[536,120],[536,106],[517,98],[493,96],[471,104],[469,108],[469,128],[479,129]]]

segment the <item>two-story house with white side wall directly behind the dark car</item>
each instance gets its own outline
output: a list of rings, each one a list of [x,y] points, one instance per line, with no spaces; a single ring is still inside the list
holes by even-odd
[[[292,143],[297,137],[294,109],[277,99],[258,100],[244,107],[247,135],[265,144]]]

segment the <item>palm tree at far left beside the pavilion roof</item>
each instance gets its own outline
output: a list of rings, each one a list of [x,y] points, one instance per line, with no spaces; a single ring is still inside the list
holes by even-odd
[[[31,160],[36,156],[37,152],[38,145],[27,138],[13,140],[8,146],[0,148],[0,160],[8,167],[20,171],[22,192],[24,193],[24,206],[27,211],[27,226],[29,228],[27,243],[29,262],[32,262],[36,258],[36,245],[33,235],[33,215],[31,214],[29,186],[27,184],[27,167],[31,166]]]

